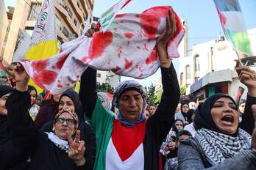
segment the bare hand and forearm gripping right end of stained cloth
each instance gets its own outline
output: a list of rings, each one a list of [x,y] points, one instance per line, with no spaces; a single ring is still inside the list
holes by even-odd
[[[168,11],[168,17],[166,17],[166,30],[157,39],[157,53],[160,59],[161,67],[168,68],[171,66],[171,60],[168,58],[168,53],[167,53],[167,44],[168,44],[168,41],[176,32],[176,29],[177,29],[176,23],[177,21],[174,17],[174,12],[171,9]]]

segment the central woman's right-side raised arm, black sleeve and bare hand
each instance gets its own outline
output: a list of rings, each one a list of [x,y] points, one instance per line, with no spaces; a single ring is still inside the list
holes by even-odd
[[[174,114],[179,103],[180,95],[177,74],[173,64],[171,64],[171,60],[168,59],[167,53],[168,41],[174,32],[176,32],[176,20],[174,15],[171,15],[171,11],[169,11],[169,16],[166,18],[166,23],[165,32],[163,32],[157,40],[157,52],[162,73],[163,95],[156,113],[152,119],[149,119],[149,122],[152,122],[154,127],[160,127],[154,128],[154,130],[157,130],[155,133],[158,134],[160,143],[162,143],[174,122]]]

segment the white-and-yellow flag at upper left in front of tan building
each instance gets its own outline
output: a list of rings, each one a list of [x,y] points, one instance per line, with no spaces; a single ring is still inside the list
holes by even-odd
[[[46,59],[57,54],[57,32],[55,23],[54,1],[45,0],[38,15],[25,59]],[[29,84],[35,86],[38,93],[43,92],[32,80]]]

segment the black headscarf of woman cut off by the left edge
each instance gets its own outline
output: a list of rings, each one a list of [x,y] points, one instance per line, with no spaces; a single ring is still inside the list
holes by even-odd
[[[13,92],[10,86],[0,85],[0,97]],[[7,127],[7,117],[0,114],[0,144],[4,144],[10,138],[10,131]]]

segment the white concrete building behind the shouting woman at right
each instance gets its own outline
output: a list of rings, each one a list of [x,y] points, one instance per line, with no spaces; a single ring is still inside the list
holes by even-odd
[[[252,53],[256,53],[256,29],[248,31]],[[205,99],[215,93],[227,93],[235,97],[238,86],[243,86],[235,73],[237,54],[224,37],[193,45],[190,56],[179,58],[179,84],[187,87],[186,95]],[[243,59],[244,64],[255,69],[255,57]],[[246,95],[246,93],[244,93]],[[243,96],[244,97],[244,96]]]

